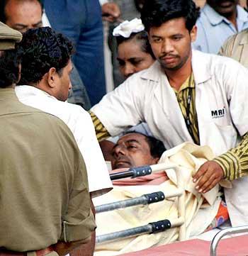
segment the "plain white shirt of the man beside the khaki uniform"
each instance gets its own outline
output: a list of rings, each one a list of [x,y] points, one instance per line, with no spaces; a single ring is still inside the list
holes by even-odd
[[[18,86],[16,94],[23,104],[51,113],[67,124],[84,157],[91,196],[99,196],[110,191],[112,182],[89,113],[81,106],[59,101],[35,87]]]

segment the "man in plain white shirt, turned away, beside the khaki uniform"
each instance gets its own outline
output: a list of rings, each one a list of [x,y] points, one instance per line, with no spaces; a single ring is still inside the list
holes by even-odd
[[[108,169],[89,113],[64,102],[71,87],[72,42],[46,27],[28,30],[17,48],[23,52],[21,85],[16,87],[18,99],[59,117],[69,126],[86,163],[92,197],[111,190]]]

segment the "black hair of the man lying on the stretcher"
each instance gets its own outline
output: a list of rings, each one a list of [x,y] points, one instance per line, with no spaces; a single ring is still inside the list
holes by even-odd
[[[149,145],[150,148],[150,153],[152,157],[154,158],[160,158],[164,151],[166,151],[166,148],[164,147],[164,143],[162,143],[161,140],[158,140],[157,138],[154,138],[152,136],[145,135],[144,133],[139,133],[135,130],[128,130],[125,132],[123,135],[130,134],[130,133],[137,133],[145,136],[145,140],[147,141],[147,144]]]

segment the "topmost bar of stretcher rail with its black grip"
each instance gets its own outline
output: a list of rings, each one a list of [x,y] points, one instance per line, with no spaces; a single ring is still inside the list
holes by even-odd
[[[152,168],[150,165],[142,167],[132,167],[125,172],[116,172],[110,174],[111,180],[124,179],[124,178],[136,178],[152,174]]]

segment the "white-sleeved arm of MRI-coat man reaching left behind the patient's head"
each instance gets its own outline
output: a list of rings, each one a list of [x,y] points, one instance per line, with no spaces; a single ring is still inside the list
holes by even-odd
[[[146,87],[146,80],[140,79],[140,74],[133,74],[91,108],[98,141],[119,135],[145,121],[144,108],[149,94]]]

